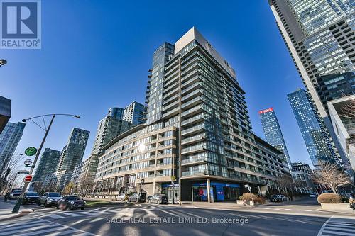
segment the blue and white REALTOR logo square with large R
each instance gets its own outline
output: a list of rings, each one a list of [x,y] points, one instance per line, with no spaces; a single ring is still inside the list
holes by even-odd
[[[0,0],[0,48],[40,49],[40,0]]]

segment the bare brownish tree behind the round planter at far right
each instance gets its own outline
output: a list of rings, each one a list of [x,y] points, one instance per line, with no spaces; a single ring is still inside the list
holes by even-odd
[[[341,169],[337,163],[320,161],[320,169],[315,172],[314,180],[318,184],[329,187],[338,194],[337,188],[351,184],[350,177]]]

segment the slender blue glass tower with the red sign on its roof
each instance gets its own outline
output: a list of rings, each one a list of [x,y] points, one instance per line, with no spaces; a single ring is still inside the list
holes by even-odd
[[[278,118],[273,108],[267,108],[265,110],[259,111],[261,118],[261,125],[263,125],[264,135],[266,137],[266,142],[276,147],[280,152],[285,154],[286,161],[288,163],[288,169],[292,170],[292,164],[290,155],[288,154],[288,149],[286,147],[285,140],[283,139],[283,133],[281,132],[280,124],[278,123]]]

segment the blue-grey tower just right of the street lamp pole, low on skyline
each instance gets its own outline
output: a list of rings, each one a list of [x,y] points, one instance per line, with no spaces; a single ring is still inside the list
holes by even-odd
[[[60,159],[60,151],[46,148],[40,157],[40,162],[35,169],[35,175],[33,176],[33,182],[44,182],[47,174],[53,174],[57,169],[57,165]]]

